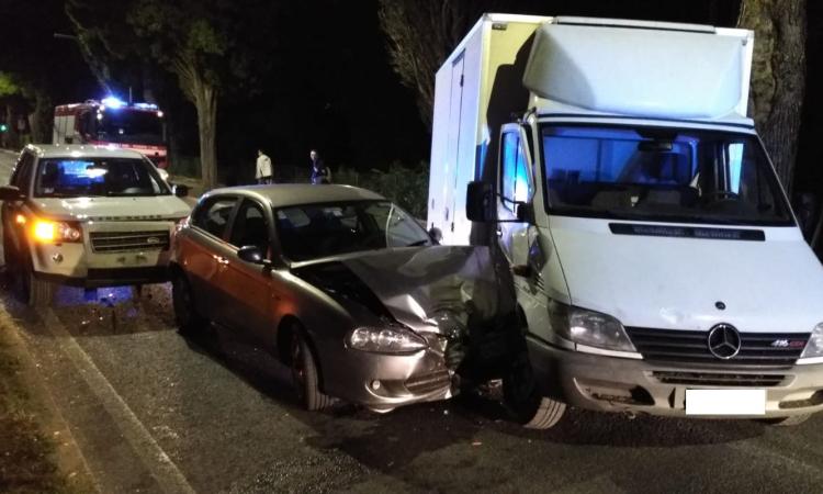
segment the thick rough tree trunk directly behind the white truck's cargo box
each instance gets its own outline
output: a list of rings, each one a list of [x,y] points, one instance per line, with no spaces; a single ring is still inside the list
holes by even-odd
[[[805,91],[805,0],[743,0],[737,25],[755,31],[749,115],[787,192]]]

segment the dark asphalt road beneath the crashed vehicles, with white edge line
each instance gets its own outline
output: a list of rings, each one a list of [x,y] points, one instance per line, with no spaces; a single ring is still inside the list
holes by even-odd
[[[0,153],[0,182],[11,159]],[[794,428],[573,411],[551,431],[463,396],[373,415],[296,406],[235,334],[178,335],[168,285],[0,303],[102,492],[821,492],[823,416]]]

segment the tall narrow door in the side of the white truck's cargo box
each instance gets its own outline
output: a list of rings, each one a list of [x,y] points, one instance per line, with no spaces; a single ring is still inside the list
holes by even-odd
[[[449,141],[446,150],[446,177],[443,179],[442,225],[443,243],[450,244],[454,232],[454,207],[458,188],[458,168],[460,164],[461,109],[463,106],[463,67],[465,52],[454,60],[451,69],[451,98],[449,108]]]

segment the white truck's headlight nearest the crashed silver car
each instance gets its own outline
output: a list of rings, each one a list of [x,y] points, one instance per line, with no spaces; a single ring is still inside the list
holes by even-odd
[[[599,312],[553,302],[552,328],[570,341],[616,351],[636,351],[620,321]]]

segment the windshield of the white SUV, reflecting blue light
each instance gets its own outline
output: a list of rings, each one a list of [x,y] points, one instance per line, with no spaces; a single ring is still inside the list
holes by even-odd
[[[170,193],[155,169],[146,160],[137,158],[43,159],[35,183],[35,195],[38,198]]]

